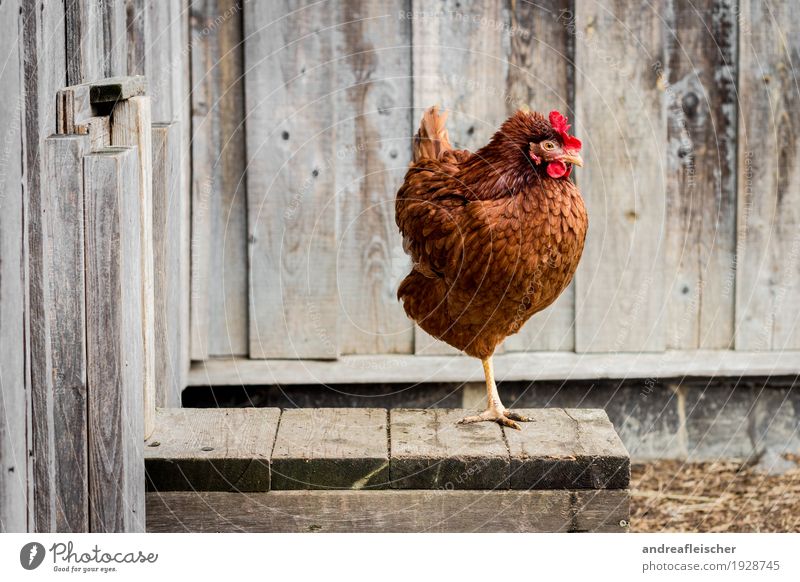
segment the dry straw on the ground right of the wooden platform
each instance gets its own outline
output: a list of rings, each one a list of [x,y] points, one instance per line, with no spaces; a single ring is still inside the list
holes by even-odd
[[[631,530],[798,532],[800,464],[781,476],[735,462],[635,465]]]

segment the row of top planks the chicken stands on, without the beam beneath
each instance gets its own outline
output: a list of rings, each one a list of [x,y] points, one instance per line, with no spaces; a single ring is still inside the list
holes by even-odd
[[[516,431],[466,410],[168,409],[145,443],[151,491],[624,489],[602,410],[520,410]]]

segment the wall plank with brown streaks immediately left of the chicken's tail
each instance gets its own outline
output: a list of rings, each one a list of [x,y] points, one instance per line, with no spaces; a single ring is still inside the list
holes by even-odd
[[[412,353],[414,325],[396,300],[409,261],[394,196],[413,133],[410,2],[348,2],[337,18],[336,196],[343,354]]]

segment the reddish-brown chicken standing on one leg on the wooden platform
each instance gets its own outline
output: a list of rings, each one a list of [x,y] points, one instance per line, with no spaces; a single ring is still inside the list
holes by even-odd
[[[480,358],[488,406],[460,422],[519,428],[503,406],[495,348],[561,294],[578,266],[588,225],[569,179],[581,142],[553,111],[518,111],[475,153],[450,145],[445,114],[422,117],[395,212],[413,266],[397,291],[430,335]]]

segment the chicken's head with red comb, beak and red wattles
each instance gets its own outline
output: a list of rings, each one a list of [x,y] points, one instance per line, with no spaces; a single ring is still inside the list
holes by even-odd
[[[528,155],[536,166],[544,166],[551,178],[566,178],[573,164],[583,165],[581,140],[569,135],[567,118],[558,111],[550,112],[550,123],[542,119],[528,142]]]

